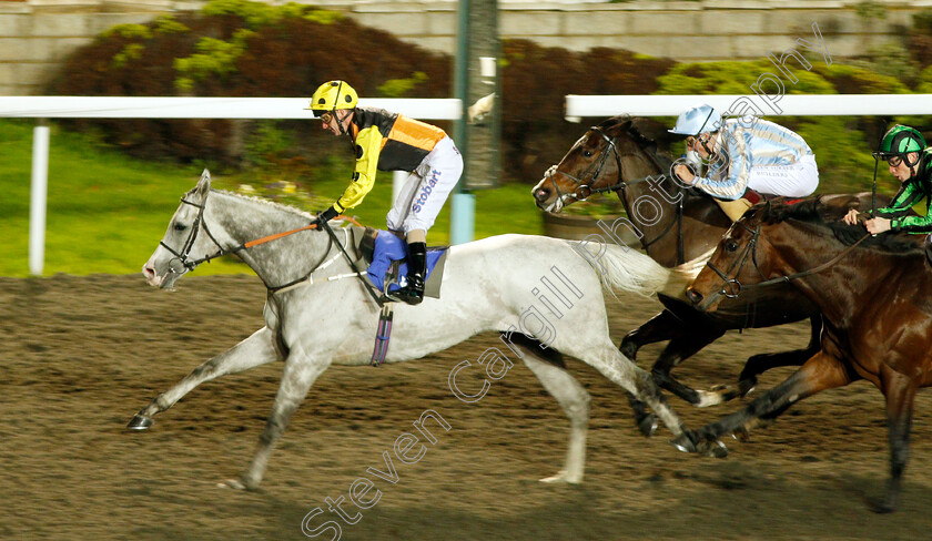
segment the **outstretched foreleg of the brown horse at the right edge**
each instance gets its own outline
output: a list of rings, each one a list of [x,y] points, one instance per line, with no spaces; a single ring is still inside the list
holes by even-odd
[[[819,351],[792,376],[777,387],[764,392],[748,407],[706,425],[698,430],[687,430],[673,440],[673,446],[683,451],[691,451],[703,441],[718,441],[722,436],[750,431],[760,423],[760,419],[772,419],[793,404],[824,389],[842,387],[857,378],[857,375],[837,358]]]

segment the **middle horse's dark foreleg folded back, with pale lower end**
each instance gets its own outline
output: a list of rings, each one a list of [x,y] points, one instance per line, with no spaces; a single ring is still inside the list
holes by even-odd
[[[699,408],[715,406],[733,398],[733,391],[698,391],[679,382],[670,374],[670,370],[682,363],[683,359],[691,357],[696,351],[719,339],[725,334],[723,330],[711,326],[705,327],[702,330],[705,331],[696,333],[690,329],[670,340],[670,344],[663,348],[657,363],[650,369],[650,375],[654,376],[654,380],[657,381],[657,385],[661,389],[667,389]]]

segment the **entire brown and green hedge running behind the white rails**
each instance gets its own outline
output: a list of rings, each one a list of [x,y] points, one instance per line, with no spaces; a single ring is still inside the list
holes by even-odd
[[[924,16],[923,16],[924,17]],[[908,34],[909,51],[891,45],[863,59],[834,59],[825,67],[794,69],[790,93],[905,93],[932,88],[922,38],[932,18],[918,18]],[[929,28],[926,28],[929,27]],[[930,54],[932,59],[932,54]],[[930,60],[932,61],[932,60]],[[506,181],[537,182],[546,169],[586,130],[564,120],[566,94],[747,94],[773,65],[754,62],[676,63],[624,50],[571,52],[530,41],[503,44],[503,155]],[[796,65],[794,65],[796,68]],[[104,32],[72,55],[52,85],[65,95],[310,95],[323,81],[346,79],[367,96],[439,98],[450,94],[452,60],[359,25],[338,12],[245,0],[214,0],[200,13],[163,17]],[[622,111],[619,111],[619,113]],[[889,121],[865,118],[781,118],[799,131],[819,161],[823,190],[865,186],[873,171],[870,151]],[[922,118],[900,121],[929,133]],[[640,125],[669,147],[672,119]],[[443,127],[449,126],[440,123]],[[214,170],[260,169],[291,181],[345,174],[351,160],[345,142],[314,122],[75,121],[99,130],[108,142],[148,159],[179,160]],[[679,143],[672,143],[679,154]],[[267,174],[267,173],[266,173]],[[274,176],[273,175],[273,176]],[[891,186],[893,187],[893,186]]]

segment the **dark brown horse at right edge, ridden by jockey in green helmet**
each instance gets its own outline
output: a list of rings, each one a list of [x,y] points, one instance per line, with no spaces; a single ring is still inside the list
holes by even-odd
[[[932,274],[923,237],[874,238],[863,226],[845,226],[838,217],[818,197],[768,204],[720,241],[689,289],[697,306],[712,312],[729,297],[791,283],[823,315],[821,347],[747,408],[675,443],[744,433],[803,398],[867,379],[887,398],[890,430],[890,480],[883,499],[872,504],[892,511],[906,463],[913,398],[920,387],[932,385]]]

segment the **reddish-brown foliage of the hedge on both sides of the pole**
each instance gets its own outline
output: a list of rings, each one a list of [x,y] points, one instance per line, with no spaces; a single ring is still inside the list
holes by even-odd
[[[160,22],[153,21],[144,25],[148,31],[136,27],[134,31],[105,33],[67,61],[48,92],[295,96],[310,95],[323,81],[345,79],[361,95],[378,96],[384,95],[379,86],[386,81],[423,72],[426,81],[416,84],[411,95],[450,95],[448,55],[404,43],[350,19],[314,22],[304,17],[284,17],[274,23],[256,24],[235,14],[189,13],[174,22],[189,30],[160,32]],[[216,69],[207,76],[195,78],[190,90],[179,90],[176,59],[197,52],[202,38],[233,42],[234,33],[244,28],[254,33],[245,39],[244,51],[230,70]],[[135,48],[136,54],[118,61],[128,45]],[[585,126],[563,120],[566,94],[651,93],[657,88],[656,78],[673,64],[622,50],[599,48],[578,53],[521,40],[507,41],[503,49],[502,141],[506,181],[536,182],[582,133]],[[220,169],[243,164],[243,150],[251,146],[249,141],[256,135],[256,124],[227,120],[73,122],[82,130],[97,126],[108,142],[142,157],[201,161]],[[292,134],[294,147],[288,155],[277,156],[275,163],[302,156],[313,165],[346,151],[345,142],[315,135],[320,131],[316,123],[287,121],[276,125]]]

